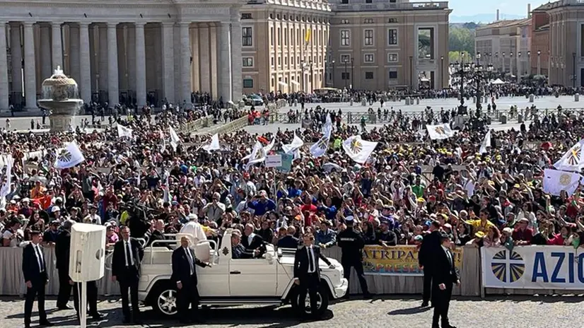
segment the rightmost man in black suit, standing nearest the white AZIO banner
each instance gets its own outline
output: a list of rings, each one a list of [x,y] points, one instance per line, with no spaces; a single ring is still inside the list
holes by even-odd
[[[432,275],[432,304],[434,315],[432,328],[456,328],[448,322],[448,307],[452,298],[452,286],[460,283],[460,279],[454,266],[454,255],[450,252],[450,236],[447,233],[440,234],[440,249],[433,256]]]

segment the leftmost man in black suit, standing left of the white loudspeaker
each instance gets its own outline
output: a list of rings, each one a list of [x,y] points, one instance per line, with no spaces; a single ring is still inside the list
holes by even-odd
[[[23,275],[26,283],[26,298],[24,302],[24,327],[30,328],[30,315],[33,313],[33,303],[38,296],[39,324],[52,326],[47,320],[45,312],[45,286],[49,281],[45,253],[40,245],[42,235],[40,231],[30,232],[30,244],[23,250]]]

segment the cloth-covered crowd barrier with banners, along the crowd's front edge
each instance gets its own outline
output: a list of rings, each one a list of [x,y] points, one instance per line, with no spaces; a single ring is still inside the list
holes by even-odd
[[[409,248],[411,247],[411,252]],[[381,248],[378,252],[381,252]],[[363,260],[369,291],[375,294],[421,294],[424,277],[417,267],[414,246],[389,247],[387,253]],[[0,295],[23,295],[22,248],[0,247]],[[323,250],[330,258],[341,259],[341,249]],[[371,257],[377,258],[374,261]],[[109,258],[108,258],[109,259]],[[59,276],[55,269],[54,248],[45,247],[49,283],[47,295],[57,295]],[[460,269],[460,286],[454,295],[486,294],[534,295],[584,293],[584,252],[574,247],[526,246],[508,251],[503,247],[460,247],[455,250],[455,264]],[[109,264],[107,264],[109,266]],[[361,293],[354,269],[351,269],[349,293]],[[119,295],[111,272],[98,281],[100,295]]]

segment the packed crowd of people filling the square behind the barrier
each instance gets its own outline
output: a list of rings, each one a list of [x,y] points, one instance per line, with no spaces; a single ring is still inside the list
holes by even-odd
[[[386,246],[419,244],[434,221],[457,245],[477,247],[577,247],[584,230],[580,189],[561,196],[542,191],[542,170],[584,135],[583,117],[550,115],[520,131],[491,131],[482,154],[483,130],[463,129],[431,141],[421,134],[420,122],[401,115],[364,132],[332,119],[327,151],[315,157],[309,148],[322,141],[326,110],[319,115],[322,124],[309,129],[223,134],[220,149],[211,152],[202,147],[211,136],[180,134],[180,142],[170,141],[170,127],[201,114],[167,109],[154,116],[117,116],[117,124],[132,129],[131,138],[120,138],[115,124],[87,133],[3,131],[0,148],[14,164],[0,209],[2,245],[21,245],[31,230],[45,231],[50,244],[66,218],[106,225],[107,244],[118,240],[120,225],[148,240],[177,233],[193,220],[202,223],[208,238],[252,224],[276,245],[312,231],[324,247],[335,244],[349,217],[368,245]],[[378,142],[363,164],[342,146],[356,134]],[[274,141],[269,153],[280,153],[295,136],[305,144],[289,172],[245,165],[257,141],[264,146]],[[74,140],[86,160],[57,170],[54,149]],[[534,142],[542,146],[525,147]],[[40,150],[42,156],[25,156]]]

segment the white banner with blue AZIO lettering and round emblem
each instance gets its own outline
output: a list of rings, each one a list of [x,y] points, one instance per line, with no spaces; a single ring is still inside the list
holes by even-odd
[[[584,252],[569,246],[482,247],[483,286],[584,290]]]

